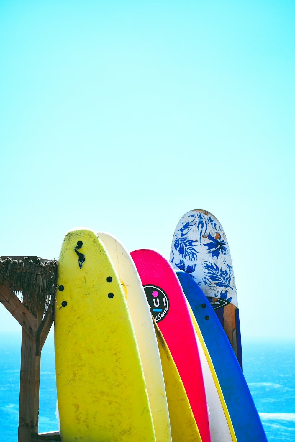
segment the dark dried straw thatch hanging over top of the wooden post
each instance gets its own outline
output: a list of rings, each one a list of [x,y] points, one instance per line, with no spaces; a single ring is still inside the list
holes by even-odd
[[[0,284],[6,284],[11,291],[21,291],[22,301],[27,309],[36,314],[45,313],[52,305],[57,287],[57,261],[37,258],[0,258]]]

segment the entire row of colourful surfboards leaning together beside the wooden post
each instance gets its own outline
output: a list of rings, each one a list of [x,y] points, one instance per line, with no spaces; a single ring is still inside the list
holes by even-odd
[[[186,213],[170,261],[106,232],[65,235],[54,310],[62,442],[266,441],[218,220]]]

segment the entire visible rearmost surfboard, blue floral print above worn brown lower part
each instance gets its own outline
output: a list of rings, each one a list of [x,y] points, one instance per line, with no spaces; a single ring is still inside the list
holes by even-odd
[[[242,369],[236,284],[228,242],[212,213],[195,209],[178,222],[170,253],[172,267],[195,279],[226,332]]]

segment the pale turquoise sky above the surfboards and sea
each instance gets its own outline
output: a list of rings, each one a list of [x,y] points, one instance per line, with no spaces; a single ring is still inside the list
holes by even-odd
[[[0,255],[86,226],[169,258],[205,209],[242,341],[294,339],[294,29],[287,0],[1,0]]]

